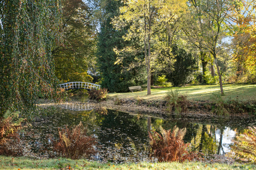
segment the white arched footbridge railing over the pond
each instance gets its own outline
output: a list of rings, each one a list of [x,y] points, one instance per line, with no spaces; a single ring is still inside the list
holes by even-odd
[[[59,86],[61,89],[64,89],[64,90],[71,90],[71,89],[99,90],[100,89],[100,85],[97,85],[94,83],[81,82],[81,81],[63,83],[63,84],[59,84]]]

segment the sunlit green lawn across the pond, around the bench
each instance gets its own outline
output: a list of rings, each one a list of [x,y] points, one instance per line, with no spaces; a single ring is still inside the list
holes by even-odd
[[[151,95],[147,95],[147,90],[142,92],[127,92],[127,93],[108,93],[109,97],[118,98],[142,98],[146,100],[159,100],[163,99],[166,93],[170,90],[177,90],[180,95],[187,95],[188,100],[211,100],[213,94],[220,94],[219,85],[193,85],[187,87],[167,87],[159,89],[151,89]],[[256,85],[239,85],[229,84],[223,85],[225,100],[236,100],[239,101],[256,101]]]

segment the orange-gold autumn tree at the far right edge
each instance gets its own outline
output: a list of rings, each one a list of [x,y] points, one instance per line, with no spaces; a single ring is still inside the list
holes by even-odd
[[[248,75],[247,81],[256,81],[256,16],[255,0],[240,0],[230,16],[237,75]]]

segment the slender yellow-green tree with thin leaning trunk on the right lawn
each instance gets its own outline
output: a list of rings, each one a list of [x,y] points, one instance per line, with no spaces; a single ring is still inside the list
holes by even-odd
[[[225,38],[227,33],[226,22],[230,13],[234,10],[236,3],[232,0],[191,0],[189,6],[193,7],[196,11],[201,11],[195,13],[196,16],[199,15],[196,23],[199,22],[200,31],[195,32],[194,35],[200,40],[197,44],[200,44],[200,48],[203,48],[203,51],[200,50],[201,58],[202,52],[204,53],[206,51],[214,58],[219,75],[220,92],[223,95],[222,73],[220,72],[217,59],[219,52],[223,48],[223,38]],[[196,39],[194,40],[196,41]]]

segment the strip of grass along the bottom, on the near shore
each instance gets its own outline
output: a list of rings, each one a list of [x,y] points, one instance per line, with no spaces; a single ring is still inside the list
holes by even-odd
[[[2,170],[255,170],[254,164],[206,164],[200,162],[186,163],[97,163],[87,160],[71,160],[65,158],[39,160],[26,157],[3,157],[0,156],[0,169]]]

